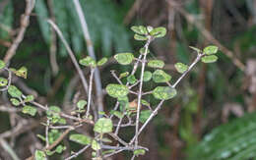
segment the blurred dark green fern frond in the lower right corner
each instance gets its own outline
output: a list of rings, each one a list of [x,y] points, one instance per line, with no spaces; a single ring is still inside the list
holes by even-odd
[[[256,114],[242,118],[214,129],[203,140],[189,150],[191,160],[247,160],[256,156]]]

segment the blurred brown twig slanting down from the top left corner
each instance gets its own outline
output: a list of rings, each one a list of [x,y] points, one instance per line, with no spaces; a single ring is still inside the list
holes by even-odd
[[[26,10],[25,14],[22,15],[21,18],[21,27],[19,29],[17,37],[14,39],[13,44],[7,50],[4,62],[9,62],[13,56],[16,54],[16,50],[19,47],[20,43],[24,39],[24,34],[26,32],[27,27],[30,25],[30,15],[32,13],[32,9],[34,7],[34,0],[26,0]]]

